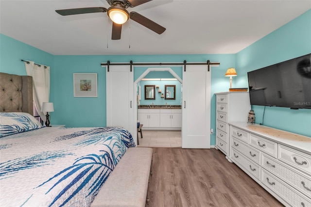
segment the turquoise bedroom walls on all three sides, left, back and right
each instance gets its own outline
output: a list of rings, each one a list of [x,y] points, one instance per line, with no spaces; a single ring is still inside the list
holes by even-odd
[[[24,63],[28,59],[51,67],[50,101],[55,111],[51,113],[52,124],[67,127],[106,125],[105,70],[102,62],[220,62],[211,69],[211,128],[215,131],[216,97],[214,93],[228,91],[227,68],[235,67],[238,76],[233,77],[233,87],[247,87],[247,71],[259,69],[311,52],[311,11],[265,36],[237,54],[184,54],[184,55],[52,55],[32,46],[0,34],[0,71],[25,75]],[[172,68],[172,67],[171,67]],[[147,67],[134,67],[134,80]],[[181,67],[173,67],[182,77]],[[98,73],[98,97],[74,98],[73,73]],[[258,123],[262,122],[263,107],[253,106]],[[245,115],[244,115],[245,116]],[[311,110],[290,110],[267,107],[264,125],[311,136]],[[211,135],[215,144],[215,134]]]

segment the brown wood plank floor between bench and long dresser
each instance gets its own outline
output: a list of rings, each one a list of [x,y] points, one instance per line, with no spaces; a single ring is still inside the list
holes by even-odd
[[[153,148],[146,207],[281,207],[215,149]]]

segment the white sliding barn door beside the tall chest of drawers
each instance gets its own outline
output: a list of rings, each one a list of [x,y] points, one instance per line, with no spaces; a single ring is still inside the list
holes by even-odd
[[[210,77],[207,65],[183,70],[182,148],[210,148]]]

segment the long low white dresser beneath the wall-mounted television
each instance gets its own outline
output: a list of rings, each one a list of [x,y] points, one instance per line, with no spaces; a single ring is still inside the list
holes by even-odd
[[[283,205],[311,207],[311,138],[258,124],[229,125],[229,158]]]

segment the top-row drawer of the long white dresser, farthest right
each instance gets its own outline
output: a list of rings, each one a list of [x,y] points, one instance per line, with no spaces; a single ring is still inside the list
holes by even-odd
[[[279,145],[279,159],[299,168],[307,173],[311,173],[311,156],[294,149]]]

